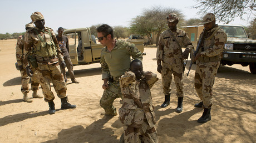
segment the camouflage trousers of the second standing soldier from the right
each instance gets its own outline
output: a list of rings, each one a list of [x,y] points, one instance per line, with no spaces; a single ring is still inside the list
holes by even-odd
[[[176,85],[176,95],[178,97],[184,96],[184,84],[182,81],[183,76],[183,64],[170,65],[168,63],[162,64],[162,85],[164,94],[168,95],[171,92],[171,80],[174,76],[174,83]]]

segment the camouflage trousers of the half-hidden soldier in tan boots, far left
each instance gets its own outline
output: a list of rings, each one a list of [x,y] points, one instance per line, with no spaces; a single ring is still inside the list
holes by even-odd
[[[37,71],[36,70],[33,70],[34,71],[34,74],[31,78],[31,90],[32,91],[35,91],[35,90],[38,90],[38,86],[39,86],[39,81],[37,79]],[[27,75],[26,73],[26,69],[22,69],[21,71],[21,92],[22,93],[28,93],[28,89],[29,89],[29,80],[30,80],[30,77]]]

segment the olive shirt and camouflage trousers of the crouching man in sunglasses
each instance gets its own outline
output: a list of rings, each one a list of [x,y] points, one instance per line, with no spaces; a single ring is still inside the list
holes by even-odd
[[[122,96],[119,78],[129,71],[131,57],[142,60],[142,53],[134,44],[122,40],[116,40],[116,45],[111,52],[106,47],[101,51],[102,80],[109,79],[109,88],[104,90],[100,99],[100,106],[104,108],[106,114],[116,114],[113,102]]]

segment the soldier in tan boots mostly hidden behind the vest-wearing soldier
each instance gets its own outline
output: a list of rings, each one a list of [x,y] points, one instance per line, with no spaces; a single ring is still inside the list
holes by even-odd
[[[26,73],[26,67],[23,67],[23,58],[24,58],[24,35],[20,36],[17,40],[16,44],[16,59],[19,67],[19,71],[21,72],[21,92],[23,93],[23,101],[27,103],[31,103],[33,100],[28,98],[28,83],[30,77]],[[37,72],[33,69],[33,76],[31,77],[31,90],[33,91],[33,98],[43,98],[43,96],[37,94],[39,81],[37,79]]]

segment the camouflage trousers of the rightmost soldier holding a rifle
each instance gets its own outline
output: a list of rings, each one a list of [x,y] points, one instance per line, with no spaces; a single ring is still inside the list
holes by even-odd
[[[196,64],[195,90],[203,101],[203,108],[211,108],[213,100],[214,78],[218,72],[219,62],[212,64]]]

